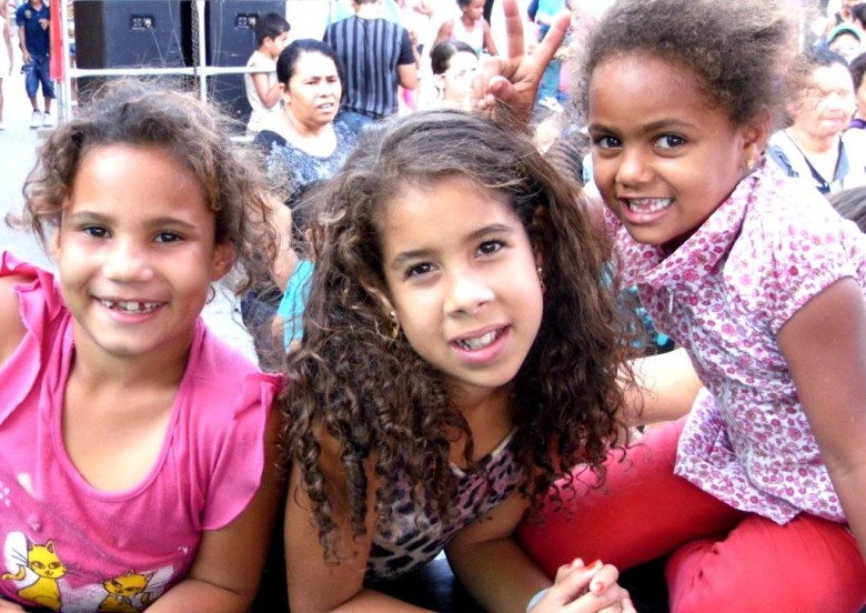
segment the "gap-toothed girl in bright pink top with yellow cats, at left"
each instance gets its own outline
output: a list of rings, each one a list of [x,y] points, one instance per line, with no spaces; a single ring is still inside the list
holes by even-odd
[[[80,111],[19,220],[57,279],[0,260],[0,600],[245,612],[281,491],[280,379],[200,314],[212,282],[235,268],[243,290],[271,261],[258,161],[194,96],[122,83]]]

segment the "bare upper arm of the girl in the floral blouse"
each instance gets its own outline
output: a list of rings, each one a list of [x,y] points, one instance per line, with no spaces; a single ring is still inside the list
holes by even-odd
[[[839,280],[807,302],[778,346],[866,559],[866,308],[857,283]]]

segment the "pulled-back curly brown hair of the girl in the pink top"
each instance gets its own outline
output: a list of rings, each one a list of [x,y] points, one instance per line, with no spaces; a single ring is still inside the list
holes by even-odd
[[[81,160],[97,147],[128,143],[165,149],[201,184],[216,220],[216,243],[234,248],[238,292],[266,277],[276,234],[262,165],[251,148],[230,138],[231,120],[214,108],[158,82],[121,80],[104,86],[40,147],[24,181],[24,210],[10,224],[29,228],[43,248],[69,205]]]

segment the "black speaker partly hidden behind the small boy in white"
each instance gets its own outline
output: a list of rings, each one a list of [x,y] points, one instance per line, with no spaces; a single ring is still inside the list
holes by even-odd
[[[285,17],[285,1],[271,0],[211,0],[205,7],[208,34],[208,64],[240,67],[259,48],[255,40],[255,20],[264,13]],[[243,74],[214,74],[208,79],[210,99],[243,123],[252,109],[246,101]]]

